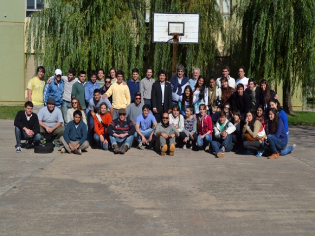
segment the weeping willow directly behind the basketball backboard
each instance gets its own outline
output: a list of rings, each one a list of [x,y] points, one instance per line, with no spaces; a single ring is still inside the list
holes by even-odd
[[[177,63],[185,65],[188,72],[194,66],[198,66],[201,68],[202,74],[209,74],[210,66],[212,66],[215,57],[219,54],[219,34],[221,33],[223,41],[226,39],[226,32],[217,0],[151,0],[151,12],[200,14],[199,44],[179,44]],[[152,23],[153,19],[150,22]],[[171,71],[171,44],[154,44],[150,48],[154,48],[153,63],[155,71],[160,68]]]

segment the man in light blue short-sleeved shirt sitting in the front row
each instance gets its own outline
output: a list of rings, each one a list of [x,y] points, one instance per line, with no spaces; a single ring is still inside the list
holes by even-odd
[[[152,113],[149,113],[150,105],[144,104],[142,106],[142,114],[137,117],[136,121],[136,133],[135,138],[138,141],[138,148],[142,149],[143,145],[151,145],[152,137],[154,134],[154,130],[156,125],[158,124],[156,118]],[[153,127],[153,128],[152,128]]]

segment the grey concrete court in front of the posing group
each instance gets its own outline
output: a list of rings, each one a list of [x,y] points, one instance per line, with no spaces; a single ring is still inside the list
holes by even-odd
[[[15,153],[0,120],[1,236],[314,236],[315,127],[278,160],[131,148]]]

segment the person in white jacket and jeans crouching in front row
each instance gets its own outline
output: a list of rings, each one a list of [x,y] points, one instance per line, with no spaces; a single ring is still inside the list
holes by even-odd
[[[218,158],[224,157],[225,151],[230,151],[233,148],[232,133],[235,131],[235,126],[228,121],[224,111],[219,113],[219,120],[214,126],[214,140],[211,141],[211,147],[216,152]]]

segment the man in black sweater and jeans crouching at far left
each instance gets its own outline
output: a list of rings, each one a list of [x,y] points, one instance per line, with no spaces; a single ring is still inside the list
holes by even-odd
[[[21,148],[32,148],[39,145],[39,123],[37,115],[32,113],[33,103],[24,104],[25,111],[19,111],[14,119],[16,146],[15,151],[21,152]],[[21,140],[26,140],[21,144]]]

